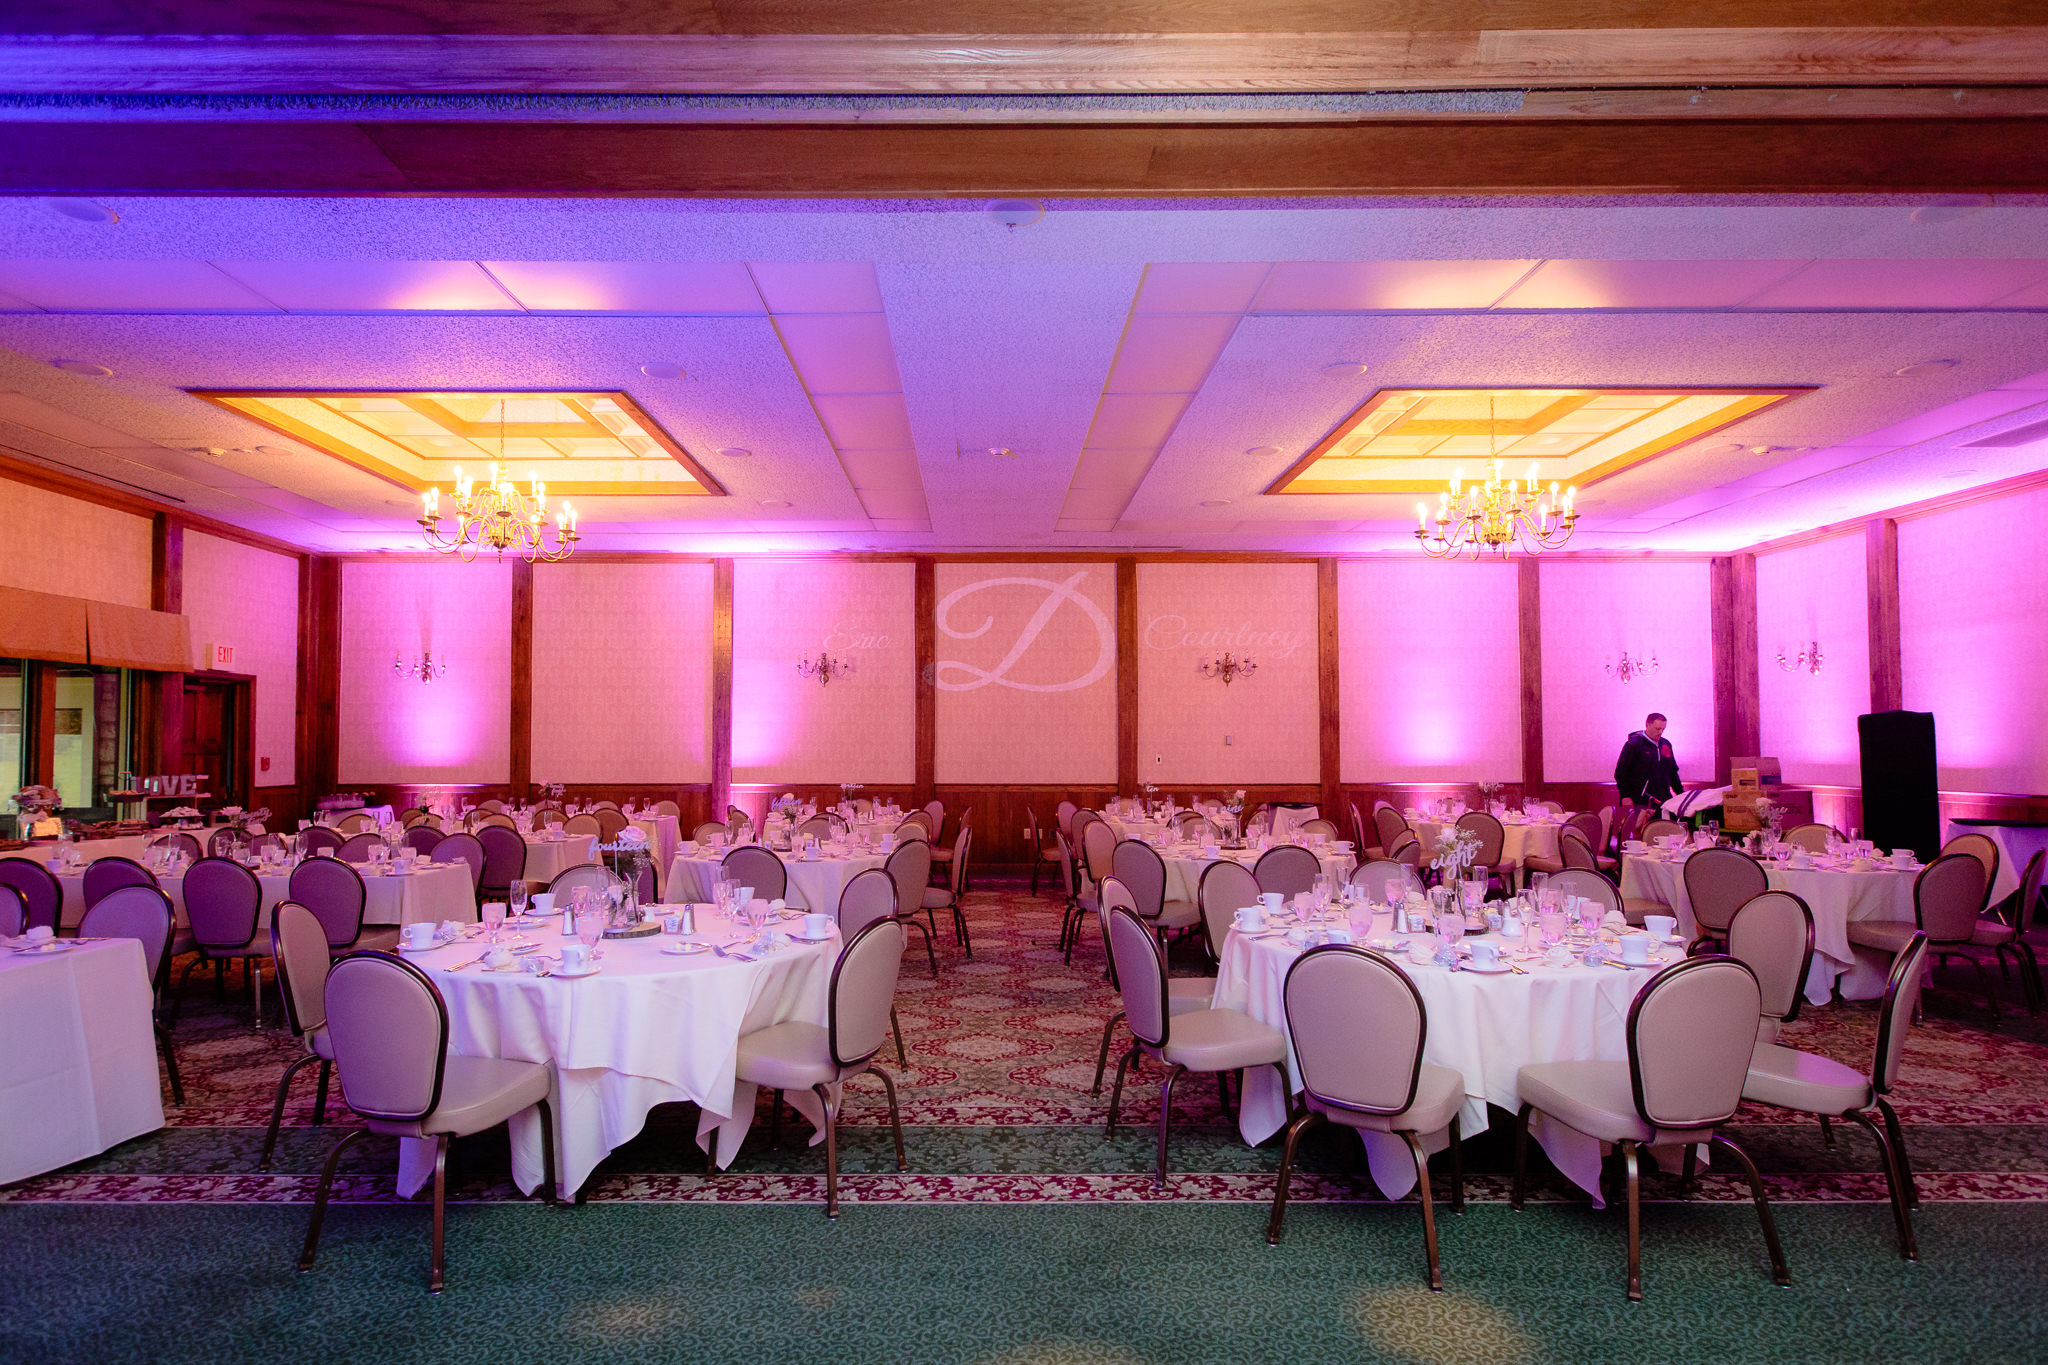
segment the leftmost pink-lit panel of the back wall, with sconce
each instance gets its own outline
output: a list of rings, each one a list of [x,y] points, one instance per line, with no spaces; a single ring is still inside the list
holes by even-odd
[[[391,669],[432,649],[446,677]],[[512,769],[512,567],[342,565],[338,780],[506,782]]]

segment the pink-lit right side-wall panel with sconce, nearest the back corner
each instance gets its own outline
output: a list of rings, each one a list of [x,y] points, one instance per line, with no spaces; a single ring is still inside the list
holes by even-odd
[[[1821,645],[1821,671],[1786,671]],[[1864,536],[1757,555],[1757,706],[1763,753],[1790,784],[1862,786],[1855,718],[1870,710]]]

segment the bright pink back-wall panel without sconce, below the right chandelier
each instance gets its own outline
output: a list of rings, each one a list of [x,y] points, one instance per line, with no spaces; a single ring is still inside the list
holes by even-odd
[[[1346,782],[1522,776],[1516,567],[1337,565]]]

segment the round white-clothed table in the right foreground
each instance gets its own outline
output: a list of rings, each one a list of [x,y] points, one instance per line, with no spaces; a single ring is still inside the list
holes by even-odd
[[[1358,941],[1403,945],[1389,956],[1421,993],[1430,1019],[1423,1060],[1432,1066],[1450,1066],[1464,1076],[1464,1109],[1458,1113],[1464,1138],[1487,1130],[1489,1103],[1507,1113],[1522,1107],[1516,1078],[1524,1066],[1626,1062],[1628,1005],[1663,966],[1677,960],[1677,950],[1663,950],[1665,958],[1640,968],[1585,966],[1577,960],[1571,966],[1548,966],[1530,960],[1522,964],[1524,974],[1483,976],[1409,962],[1407,937],[1393,933],[1391,913],[1380,913],[1376,933],[1364,929],[1366,919],[1360,915],[1354,921]],[[1284,935],[1247,937],[1231,929],[1217,972],[1217,1007],[1241,1009],[1286,1033],[1282,990],[1286,972],[1300,954],[1303,950],[1288,945]],[[1292,1042],[1286,1066],[1288,1083],[1300,1091]],[[1251,1068],[1245,1072],[1243,1101],[1237,1107],[1237,1130],[1245,1142],[1260,1144],[1284,1126],[1286,1103],[1278,1078],[1268,1066]],[[1563,1124],[1546,1121],[1542,1113],[1530,1115],[1530,1136],[1573,1185],[1593,1195],[1597,1207],[1602,1144]],[[1366,1144],[1372,1181],[1389,1199],[1399,1199],[1415,1187],[1415,1160],[1407,1142],[1395,1134],[1374,1132],[1360,1132],[1360,1138]],[[1444,1134],[1423,1140],[1432,1152],[1446,1144]]]

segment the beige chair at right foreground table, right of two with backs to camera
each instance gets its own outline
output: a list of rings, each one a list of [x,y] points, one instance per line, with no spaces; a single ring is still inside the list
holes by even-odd
[[[1735,1154],[1749,1175],[1749,1193],[1763,1224],[1772,1279],[1792,1283],[1763,1177],[1749,1152],[1720,1130],[1743,1103],[1749,1058],[1757,1048],[1763,993],[1755,972],[1735,958],[1681,958],[1636,993],[1628,1007],[1626,1062],[1536,1062],[1516,1072],[1522,1109],[1516,1115],[1516,1185],[1509,1203],[1522,1212],[1528,1183],[1530,1113],[1622,1150],[1628,1173],[1628,1300],[1642,1300],[1640,1148],[1683,1144],[1686,1189],[1692,1187],[1700,1142]]]

